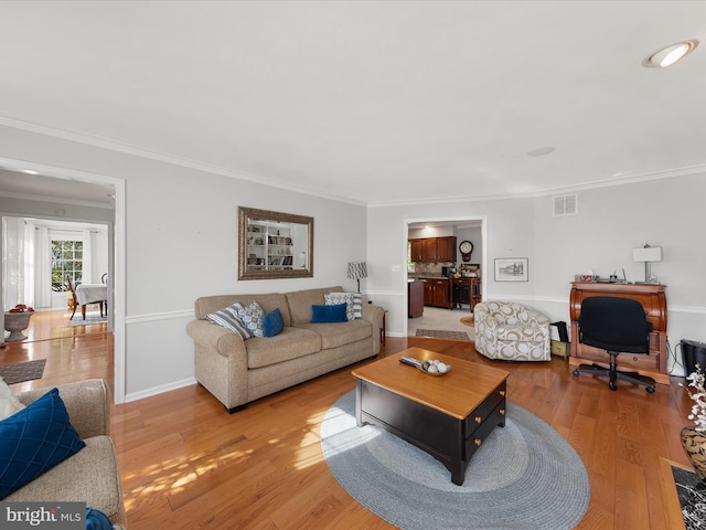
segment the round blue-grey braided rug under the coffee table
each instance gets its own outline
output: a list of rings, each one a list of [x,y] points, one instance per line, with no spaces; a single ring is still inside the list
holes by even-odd
[[[404,530],[574,528],[590,499],[584,463],[554,428],[507,403],[462,486],[434,457],[373,425],[355,425],[355,392],[321,424],[327,464],[361,505]]]

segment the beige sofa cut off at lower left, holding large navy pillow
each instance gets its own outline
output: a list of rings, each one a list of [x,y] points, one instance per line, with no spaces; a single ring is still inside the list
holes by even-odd
[[[99,379],[56,388],[66,405],[71,424],[86,446],[2,500],[86,502],[89,508],[108,516],[115,530],[124,530],[127,528],[127,517],[118,462],[110,439],[110,389]],[[17,398],[26,406],[50,390],[28,390],[18,393]]]

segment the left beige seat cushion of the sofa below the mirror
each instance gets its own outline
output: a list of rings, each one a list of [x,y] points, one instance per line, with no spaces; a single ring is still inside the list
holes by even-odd
[[[311,330],[285,327],[271,338],[255,338],[246,342],[247,368],[263,368],[321,350],[321,336]]]

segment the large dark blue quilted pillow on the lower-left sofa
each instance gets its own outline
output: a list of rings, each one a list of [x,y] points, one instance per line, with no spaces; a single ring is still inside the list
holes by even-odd
[[[52,389],[0,422],[0,499],[86,446]]]

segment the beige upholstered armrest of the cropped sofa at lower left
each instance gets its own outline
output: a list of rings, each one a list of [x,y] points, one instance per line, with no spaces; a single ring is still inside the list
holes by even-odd
[[[101,379],[89,379],[75,383],[56,385],[58,395],[66,405],[71,424],[82,439],[92,436],[110,435],[110,411],[113,396]],[[29,405],[52,390],[33,389],[17,394],[20,402]]]

